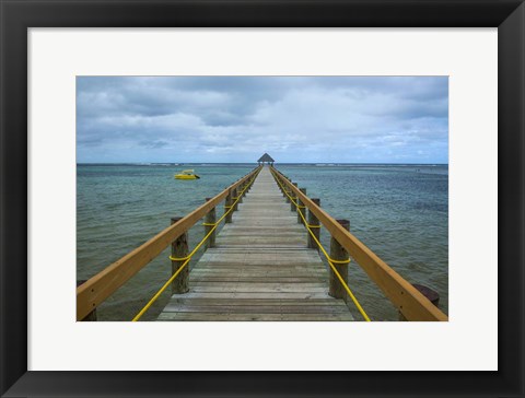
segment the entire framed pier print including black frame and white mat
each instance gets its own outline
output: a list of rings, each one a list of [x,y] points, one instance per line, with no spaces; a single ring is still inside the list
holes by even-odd
[[[525,5],[522,1],[1,0],[0,11],[2,396],[524,395],[521,246]],[[236,87],[236,102],[230,101],[233,87]],[[284,94],[279,97],[276,93]],[[166,103],[164,98],[172,101]],[[174,115],[166,106],[178,106],[182,110]],[[385,117],[385,109],[390,108],[404,117]],[[112,117],[101,114],[100,109],[112,109]],[[151,122],[147,116],[152,114],[159,116],[160,121]],[[325,115],[323,120],[312,118],[320,114]],[[114,118],[115,115],[118,118]],[[328,117],[332,130],[318,133],[328,126]],[[195,127],[205,118],[206,126]],[[302,119],[303,124],[291,124],[293,118]],[[385,132],[377,129],[381,124],[392,128]],[[186,132],[177,136],[178,142],[161,133],[174,126]],[[360,133],[352,133],[352,128]],[[144,138],[145,130],[158,131],[158,139],[151,142]],[[366,134],[361,134],[361,130]],[[323,139],[317,137],[314,141],[316,134]],[[293,220],[296,218],[298,223],[294,223],[306,225],[315,241],[312,230],[316,223],[329,224],[331,219],[323,209],[315,210],[315,203],[304,190],[293,186],[287,173],[308,178],[318,173],[320,191],[330,196],[335,194],[329,191],[326,182],[334,182],[330,178],[337,174],[334,169],[341,159],[337,157],[338,150],[352,148],[355,152],[361,148],[359,154],[364,156],[361,159],[365,164],[396,163],[395,155],[406,156],[411,174],[406,173],[402,164],[395,171],[383,165],[383,168],[366,169],[373,180],[380,182],[377,186],[370,185],[372,179],[361,186],[359,179],[352,179],[352,184],[355,190],[364,192],[362,197],[370,198],[373,194],[378,202],[383,198],[381,206],[396,200],[402,202],[405,197],[420,194],[410,190],[407,176],[410,184],[425,184],[427,196],[421,194],[413,201],[413,209],[428,214],[429,202],[433,200],[438,215],[422,218],[411,235],[398,236],[398,245],[410,251],[413,261],[409,266],[415,272],[418,272],[418,247],[431,247],[441,258],[445,272],[438,281],[428,279],[443,286],[441,309],[422,296],[423,288],[417,289],[404,280],[399,282],[390,269],[382,268],[384,273],[372,274],[378,285],[383,284],[395,311],[381,320],[400,317],[418,321],[346,323],[350,313],[342,314],[330,298],[337,297],[336,283],[334,291],[330,284],[329,296],[325,297],[319,291],[320,295],[313,297],[318,300],[315,308],[304,308],[304,314],[295,316],[295,320],[304,321],[275,321],[289,320],[281,319],[282,308],[289,304],[283,304],[282,297],[279,298],[282,301],[279,319],[268,315],[273,314],[270,311],[264,319],[258,319],[265,320],[261,323],[245,321],[257,319],[256,316],[246,319],[244,313],[234,314],[230,307],[226,317],[215,319],[240,321],[206,323],[201,320],[210,319],[202,319],[198,314],[187,315],[195,312],[196,306],[202,313],[212,313],[218,300],[226,306],[233,305],[233,298],[247,300],[244,305],[255,305],[249,288],[242,285],[243,278],[264,280],[266,271],[235,274],[238,270],[233,264],[234,257],[230,257],[225,260],[225,273],[217,274],[217,268],[198,272],[202,278],[212,274],[224,285],[234,285],[232,291],[221,288],[194,302],[165,303],[166,308],[184,307],[184,319],[175,320],[198,321],[119,321],[155,320],[149,315],[141,319],[150,306],[149,303],[143,306],[147,294],[141,290],[150,294],[153,288],[145,289],[140,283],[132,284],[135,292],[127,293],[140,302],[143,307],[140,313],[136,315],[135,307],[129,314],[121,311],[119,297],[106,303],[107,312],[103,313],[98,305],[112,293],[102,297],[96,291],[100,288],[96,281],[78,282],[80,288],[74,282],[96,273],[85,272],[84,278],[84,264],[107,261],[104,256],[97,257],[97,253],[113,250],[110,245],[84,245],[85,236],[91,242],[100,242],[112,235],[112,232],[104,235],[96,225],[90,224],[93,214],[98,212],[101,218],[107,218],[118,212],[110,201],[101,207],[91,204],[104,196],[127,197],[132,201],[132,195],[126,194],[126,189],[138,190],[140,186],[161,192],[159,185],[154,186],[158,178],[154,173],[165,166],[164,162],[171,167],[167,173],[171,187],[182,191],[183,185],[174,185],[182,183],[186,184],[184,187],[195,188],[199,179],[202,182],[212,175],[206,162],[225,162],[221,149],[226,148],[226,137],[238,142],[234,145],[238,160],[244,161],[241,154],[250,140],[253,148],[257,151],[260,148],[260,154],[257,154],[258,161],[253,160],[253,167],[248,167],[252,161],[246,157],[246,169],[221,168],[222,176],[213,175],[221,185],[214,192],[221,191],[224,185],[226,189],[206,202],[199,197],[195,199],[197,204],[191,202],[195,206],[188,207],[188,213],[198,208],[191,213],[195,220],[206,213],[202,230],[208,235],[219,221],[234,211],[246,191],[253,189],[256,192],[252,195],[266,197],[268,194],[261,189],[271,183],[275,195],[282,192],[283,201],[288,196],[289,202],[283,204],[287,212],[290,203],[295,204],[298,214]],[[271,137],[276,142],[285,138],[287,142],[269,151],[264,148],[265,139]],[[289,140],[290,137],[296,139]],[[407,144],[409,138],[412,141]],[[205,143],[194,145],[197,140]],[[305,140],[310,142],[298,150],[298,143]],[[339,148],[328,145],[330,140],[338,140]],[[373,157],[381,152],[378,142],[388,142],[392,151]],[[365,145],[373,147],[374,151],[366,152]],[[317,152],[310,150],[313,147],[317,147]],[[396,147],[406,150],[399,152],[394,150]],[[319,148],[325,149],[324,157],[315,157],[323,152]],[[413,166],[429,148],[434,152],[430,153],[428,163],[438,165]],[[158,157],[140,157],[145,153],[143,149],[156,153]],[[198,160],[195,171],[190,157],[179,156],[180,160],[172,164],[177,151],[191,149],[207,152],[206,157]],[[318,163],[316,169],[313,165],[296,165],[305,154],[314,156]],[[357,154],[352,159],[352,163],[359,163]],[[101,166],[104,160],[119,165]],[[126,166],[127,162],[139,161],[144,163],[140,169],[137,164]],[[154,167],[144,172],[150,162]],[[279,162],[294,165],[280,169]],[[433,168],[429,172],[430,167]],[[166,169],[161,169],[162,176]],[[350,172],[359,178],[362,169]],[[382,173],[387,179],[382,179]],[[235,176],[232,182],[238,179],[228,188],[230,175]],[[435,177],[434,185],[425,179],[428,175]],[[446,178],[439,178],[444,175]],[[86,183],[86,176],[95,177]],[[130,185],[127,179],[130,176],[139,179]],[[161,185],[167,180],[162,178]],[[381,185],[395,178],[396,186],[402,186],[404,192],[384,196]],[[108,188],[108,180],[118,180],[115,184],[118,191]],[[348,182],[340,180],[340,184]],[[314,189],[308,187],[310,194]],[[208,194],[206,191],[207,197],[211,195]],[[323,194],[319,197],[323,200]],[[90,206],[82,202],[85,198],[91,198]],[[154,200],[149,198],[154,202],[153,210],[163,209],[162,195]],[[260,198],[256,199],[259,206],[264,201]],[[249,207],[248,199],[249,195],[244,199],[246,207]],[[219,200],[225,202],[215,218],[210,215],[210,210]],[[361,202],[360,207],[365,204],[371,203]],[[110,211],[104,212],[106,208]],[[310,221],[305,218],[301,221],[303,208],[313,210]],[[271,209],[265,211],[271,212]],[[325,209],[328,213],[339,211]],[[375,216],[377,209],[381,207],[369,209],[369,213]],[[385,225],[404,222],[402,208],[395,209],[398,216],[383,218]],[[170,221],[171,216],[184,214],[166,212],[165,215]],[[149,215],[141,216],[145,220]],[[113,221],[115,227],[125,225],[125,218],[126,213],[121,213]],[[285,216],[280,219],[284,222]],[[178,231],[177,222],[185,221],[175,220],[172,226],[163,224],[164,231]],[[362,223],[368,222],[363,218]],[[352,225],[350,232],[359,230],[359,221]],[[277,236],[280,227],[275,223],[271,226],[272,234],[265,235],[260,250],[284,239]],[[394,226],[392,231],[399,231]],[[287,229],[289,226],[283,227]],[[387,230],[385,226],[374,236],[386,236]],[[85,231],[95,233],[88,235]],[[339,238],[335,239],[332,251],[326,253],[326,261],[332,267],[334,281],[337,274],[345,285],[343,278],[336,272],[342,269],[339,266],[347,265],[346,261],[361,265],[364,255],[368,256],[364,262],[369,264],[373,255],[351,238],[349,243],[345,241],[350,236],[345,222],[334,224],[328,231]],[[432,239],[417,241],[418,231],[430,231]],[[178,242],[179,236],[177,233],[172,237]],[[148,241],[147,246],[153,247],[164,238],[161,233]],[[129,241],[126,242],[129,250],[143,239],[132,233],[125,238]],[[136,258],[142,259],[129,262],[136,267],[133,272],[172,241],[150,251],[139,250]],[[253,243],[252,237],[248,241]],[[288,245],[292,241],[287,241]],[[347,248],[351,258],[342,247],[339,257],[337,242],[359,247],[355,253]],[[191,255],[184,249],[185,245],[187,243],[180,241],[172,246],[173,278],[189,262]],[[112,258],[125,255],[116,253],[112,253]],[[258,251],[254,258],[260,260],[265,254],[268,251]],[[289,256],[281,261],[293,265],[293,254],[281,249],[280,255]],[[116,269],[119,261],[114,262]],[[220,258],[214,261],[224,262]],[[247,257],[242,261],[248,261]],[[377,264],[382,265],[380,260],[375,266]],[[280,268],[276,272],[285,283],[304,282],[289,270]],[[316,288],[317,281],[312,282],[316,272],[301,276],[310,284],[300,289],[314,284]],[[104,278],[116,290],[131,276],[115,272],[100,277]],[[170,283],[164,286],[170,288]],[[350,288],[346,286],[348,292]],[[275,300],[272,292],[264,291],[268,285],[257,291],[258,308]],[[280,289],[280,294],[290,293]],[[79,291],[86,298],[78,298]],[[299,290],[292,293],[303,294]],[[407,295],[424,304],[415,307]],[[422,298],[418,298],[420,296]],[[374,301],[373,295],[368,298],[368,303]],[[360,305],[357,307],[351,316],[369,320]],[[94,317],[93,308],[101,309],[98,320],[107,321],[80,321]],[[319,321],[316,318],[319,308],[323,316],[329,314],[339,321]],[[128,316],[131,313],[132,316]],[[178,316],[174,313],[177,312],[166,311],[165,320]],[[126,317],[120,319],[120,314]]]

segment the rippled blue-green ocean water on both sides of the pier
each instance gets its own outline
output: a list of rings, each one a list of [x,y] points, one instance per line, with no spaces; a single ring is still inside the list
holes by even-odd
[[[411,283],[440,293],[448,312],[447,165],[276,165],[307,189],[336,219]],[[89,279],[131,249],[213,197],[254,167],[253,164],[79,164],[77,167],[77,278]],[[202,178],[176,180],[183,168]],[[222,213],[222,206],[218,209]],[[329,248],[329,234],[322,230]],[[203,236],[189,231],[190,248]],[[201,251],[195,258],[195,264]],[[171,276],[166,249],[97,309],[100,320],[130,320]],[[397,320],[381,290],[352,261],[349,285],[373,320]],[[170,289],[142,317],[155,319]],[[361,319],[353,305],[350,311]]]

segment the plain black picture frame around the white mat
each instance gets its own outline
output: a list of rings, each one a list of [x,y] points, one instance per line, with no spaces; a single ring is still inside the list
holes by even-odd
[[[0,13],[2,396],[524,397],[522,1],[0,0]],[[498,27],[499,371],[28,372],[27,28],[108,26]]]

